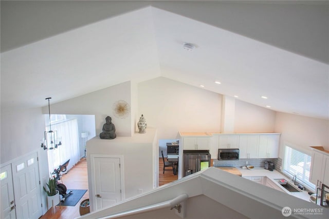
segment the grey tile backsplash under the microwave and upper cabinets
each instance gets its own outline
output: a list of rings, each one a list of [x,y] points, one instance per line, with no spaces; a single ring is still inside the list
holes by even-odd
[[[246,165],[252,165],[254,167],[263,167],[264,168],[264,162],[265,161],[271,161],[275,164],[275,169],[277,169],[277,167],[279,168],[279,162],[277,161],[278,158],[263,158],[263,159],[240,159],[237,161],[218,161],[217,159],[213,160],[213,166],[214,167],[242,167],[242,166],[246,166]],[[246,162],[248,162],[248,164],[246,164]]]

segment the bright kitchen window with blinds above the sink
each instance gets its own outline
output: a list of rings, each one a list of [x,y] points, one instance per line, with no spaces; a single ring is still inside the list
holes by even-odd
[[[315,189],[315,185],[308,181],[310,173],[310,162],[312,157],[294,148],[285,146],[283,172],[290,176],[296,175],[300,183]]]

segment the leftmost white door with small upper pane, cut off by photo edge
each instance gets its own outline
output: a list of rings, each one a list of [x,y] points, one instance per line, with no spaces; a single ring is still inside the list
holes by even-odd
[[[14,189],[12,184],[11,164],[1,168],[1,211],[2,219],[16,218]]]

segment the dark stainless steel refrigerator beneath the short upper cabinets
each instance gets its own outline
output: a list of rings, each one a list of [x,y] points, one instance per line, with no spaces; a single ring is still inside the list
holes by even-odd
[[[183,152],[183,177],[210,167],[211,155],[207,150]]]

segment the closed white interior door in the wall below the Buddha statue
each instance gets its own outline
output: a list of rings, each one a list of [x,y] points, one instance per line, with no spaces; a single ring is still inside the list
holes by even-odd
[[[120,157],[92,157],[92,183],[94,210],[99,210],[122,200]]]

